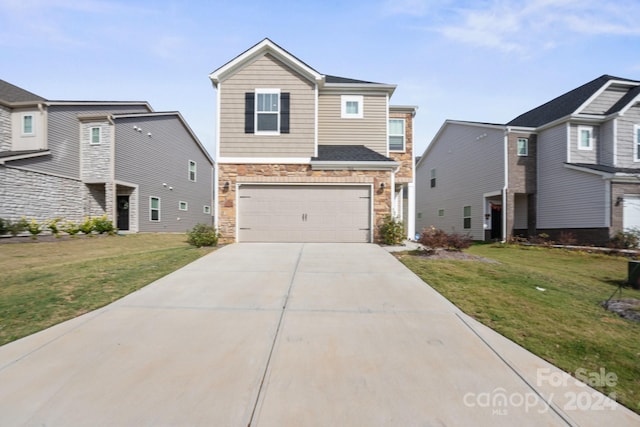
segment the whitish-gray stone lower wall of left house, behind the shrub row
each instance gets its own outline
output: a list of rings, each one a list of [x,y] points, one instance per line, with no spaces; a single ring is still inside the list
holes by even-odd
[[[85,188],[77,180],[0,166],[0,218],[80,221]]]

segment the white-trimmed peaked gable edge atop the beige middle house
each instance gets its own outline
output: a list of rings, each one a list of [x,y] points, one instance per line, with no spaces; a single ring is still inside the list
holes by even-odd
[[[222,67],[213,71],[211,74],[209,74],[209,78],[213,82],[214,86],[217,87],[218,84],[222,83],[224,80],[238,72],[240,69],[252,63],[255,59],[266,54],[271,54],[277,60],[292,68],[298,74],[304,76],[308,80],[319,82],[324,77],[322,74],[266,38],[260,43],[254,45],[240,55],[236,56],[234,59],[224,64]]]

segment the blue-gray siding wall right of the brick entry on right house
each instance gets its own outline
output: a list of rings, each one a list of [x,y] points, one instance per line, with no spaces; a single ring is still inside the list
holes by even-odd
[[[538,134],[537,228],[603,227],[607,183],[564,165],[566,135],[565,124]]]

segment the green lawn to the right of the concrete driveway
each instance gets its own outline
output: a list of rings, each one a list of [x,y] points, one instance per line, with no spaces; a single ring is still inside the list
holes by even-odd
[[[615,373],[614,387],[596,388],[640,413],[640,323],[599,305],[626,281],[626,258],[499,244],[465,252],[497,262],[399,257],[465,313],[564,371]]]

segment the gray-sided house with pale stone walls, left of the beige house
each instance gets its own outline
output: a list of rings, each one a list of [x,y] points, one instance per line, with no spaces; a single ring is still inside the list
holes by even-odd
[[[213,161],[180,113],[48,101],[0,80],[0,218],[184,232],[212,223]]]

